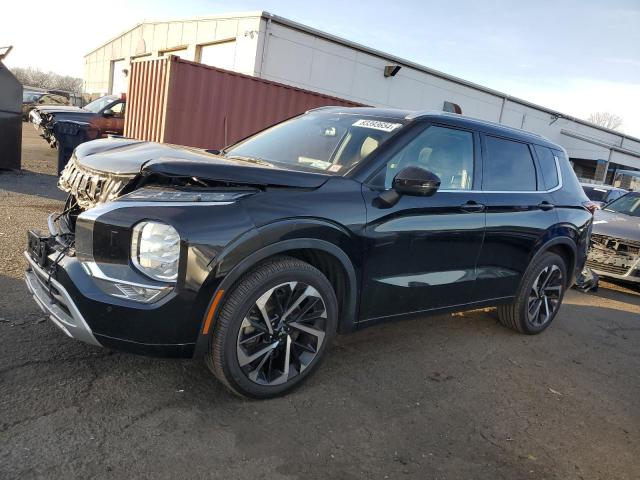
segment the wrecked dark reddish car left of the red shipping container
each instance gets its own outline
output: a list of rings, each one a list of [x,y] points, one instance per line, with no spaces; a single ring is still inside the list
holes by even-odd
[[[54,126],[59,122],[72,122],[99,132],[98,137],[107,134],[122,135],[126,100],[120,95],[106,95],[88,103],[84,107],[71,105],[45,105],[31,110],[29,120],[51,147],[57,146]],[[96,138],[96,137],[93,137]]]

